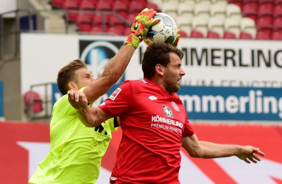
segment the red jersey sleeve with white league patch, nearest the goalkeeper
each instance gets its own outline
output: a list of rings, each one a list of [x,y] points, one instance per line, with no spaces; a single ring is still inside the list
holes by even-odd
[[[132,85],[125,81],[98,107],[106,114],[118,117],[130,110],[133,100]]]

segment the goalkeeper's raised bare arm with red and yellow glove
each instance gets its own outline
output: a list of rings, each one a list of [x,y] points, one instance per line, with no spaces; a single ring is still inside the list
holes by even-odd
[[[155,10],[146,8],[135,17],[125,46],[111,59],[104,72],[84,89],[89,103],[104,95],[123,75],[134,50],[148,33],[149,27],[159,21],[159,19],[151,20],[156,13]]]

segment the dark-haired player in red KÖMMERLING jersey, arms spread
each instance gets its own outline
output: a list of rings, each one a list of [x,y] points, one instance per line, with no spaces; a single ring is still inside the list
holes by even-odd
[[[237,156],[247,163],[264,152],[253,146],[199,141],[176,92],[185,75],[183,53],[164,43],[147,47],[144,79],[125,81],[99,107],[87,106],[83,93],[69,91],[69,101],[86,126],[120,117],[123,137],[110,178],[112,184],[179,184],[181,146],[192,157]],[[258,155],[257,155],[258,154]]]

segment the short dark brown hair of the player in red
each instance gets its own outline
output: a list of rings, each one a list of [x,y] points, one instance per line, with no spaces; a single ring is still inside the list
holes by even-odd
[[[150,79],[155,74],[157,64],[167,67],[170,61],[170,52],[176,53],[180,59],[183,58],[183,52],[171,44],[154,43],[148,46],[142,60],[144,78]]]

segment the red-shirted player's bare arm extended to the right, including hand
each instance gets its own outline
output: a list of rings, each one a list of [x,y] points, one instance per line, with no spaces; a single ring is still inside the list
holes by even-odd
[[[237,156],[247,163],[257,163],[257,161],[261,160],[258,155],[264,156],[264,152],[253,146],[225,145],[208,141],[198,141],[195,134],[182,138],[182,147],[190,156],[197,158]]]

